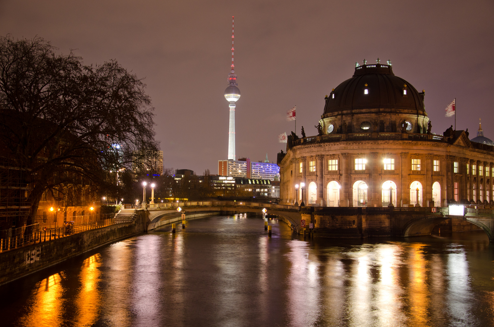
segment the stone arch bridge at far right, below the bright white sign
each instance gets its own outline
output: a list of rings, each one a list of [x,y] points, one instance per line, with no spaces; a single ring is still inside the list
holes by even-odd
[[[456,218],[468,221],[480,228],[487,234],[490,241],[494,241],[493,238],[493,220],[487,217],[468,217],[468,216],[438,216],[430,215],[425,217],[413,218],[403,227],[403,236],[421,236],[430,235],[434,226],[446,219]]]

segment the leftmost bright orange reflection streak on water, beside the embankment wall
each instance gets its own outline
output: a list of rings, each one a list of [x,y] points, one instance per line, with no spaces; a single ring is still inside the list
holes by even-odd
[[[19,324],[26,327],[56,327],[62,325],[62,276],[51,275],[37,283],[37,288],[30,298],[28,313],[19,319]]]

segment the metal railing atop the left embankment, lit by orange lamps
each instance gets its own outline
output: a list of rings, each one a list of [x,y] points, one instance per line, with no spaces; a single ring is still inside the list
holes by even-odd
[[[58,228],[40,227],[40,223],[29,226],[23,226],[15,229],[0,231],[0,252],[17,248],[24,245],[37,244],[41,242],[49,242],[52,239],[63,238],[72,234],[82,233],[88,230],[102,228],[121,223],[134,221],[133,218],[115,219],[114,213],[105,214],[102,216],[111,216],[108,218],[90,221],[83,224],[75,224]],[[26,228],[32,227],[30,233],[26,232]]]

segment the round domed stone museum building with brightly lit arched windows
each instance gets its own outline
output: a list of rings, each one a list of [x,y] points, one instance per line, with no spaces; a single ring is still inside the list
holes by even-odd
[[[278,155],[281,202],[491,204],[493,142],[480,127],[472,141],[464,130],[431,133],[425,91],[395,76],[389,61],[376,61],[356,64],[352,78],[326,97],[319,135],[288,137],[286,153]]]

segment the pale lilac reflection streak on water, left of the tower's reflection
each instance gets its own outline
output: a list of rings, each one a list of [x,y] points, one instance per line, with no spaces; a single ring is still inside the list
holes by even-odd
[[[161,264],[161,238],[157,235],[151,237],[141,236],[135,243],[135,264],[132,268],[132,311],[134,313],[133,325],[153,326],[155,318],[160,312],[159,286]]]

